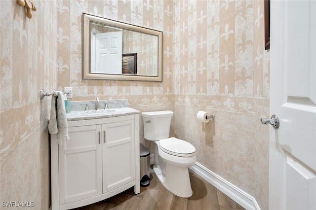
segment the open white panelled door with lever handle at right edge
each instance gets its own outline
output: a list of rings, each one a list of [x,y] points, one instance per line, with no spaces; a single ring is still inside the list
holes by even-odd
[[[316,209],[316,1],[271,1],[270,210]]]

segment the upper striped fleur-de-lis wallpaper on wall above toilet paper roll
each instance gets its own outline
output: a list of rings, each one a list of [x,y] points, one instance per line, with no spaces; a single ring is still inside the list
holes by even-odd
[[[253,100],[269,97],[263,3],[178,1],[174,10],[175,94],[214,96],[209,107],[256,114]]]

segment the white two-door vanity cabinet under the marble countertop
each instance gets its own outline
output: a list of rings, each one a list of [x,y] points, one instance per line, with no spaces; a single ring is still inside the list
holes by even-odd
[[[52,210],[140,192],[139,114],[68,121],[68,134],[51,135]]]

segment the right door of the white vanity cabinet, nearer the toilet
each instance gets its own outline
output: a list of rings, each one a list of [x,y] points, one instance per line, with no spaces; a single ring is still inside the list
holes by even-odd
[[[134,120],[102,125],[103,193],[135,179]]]

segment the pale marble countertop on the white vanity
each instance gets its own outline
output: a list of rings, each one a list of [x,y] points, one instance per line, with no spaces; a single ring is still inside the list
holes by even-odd
[[[74,110],[70,113],[67,113],[67,121],[72,120],[88,120],[88,119],[99,119],[106,117],[117,117],[130,114],[138,114],[138,110],[130,107],[118,107],[118,108],[109,108],[109,109],[100,109],[100,110]]]

